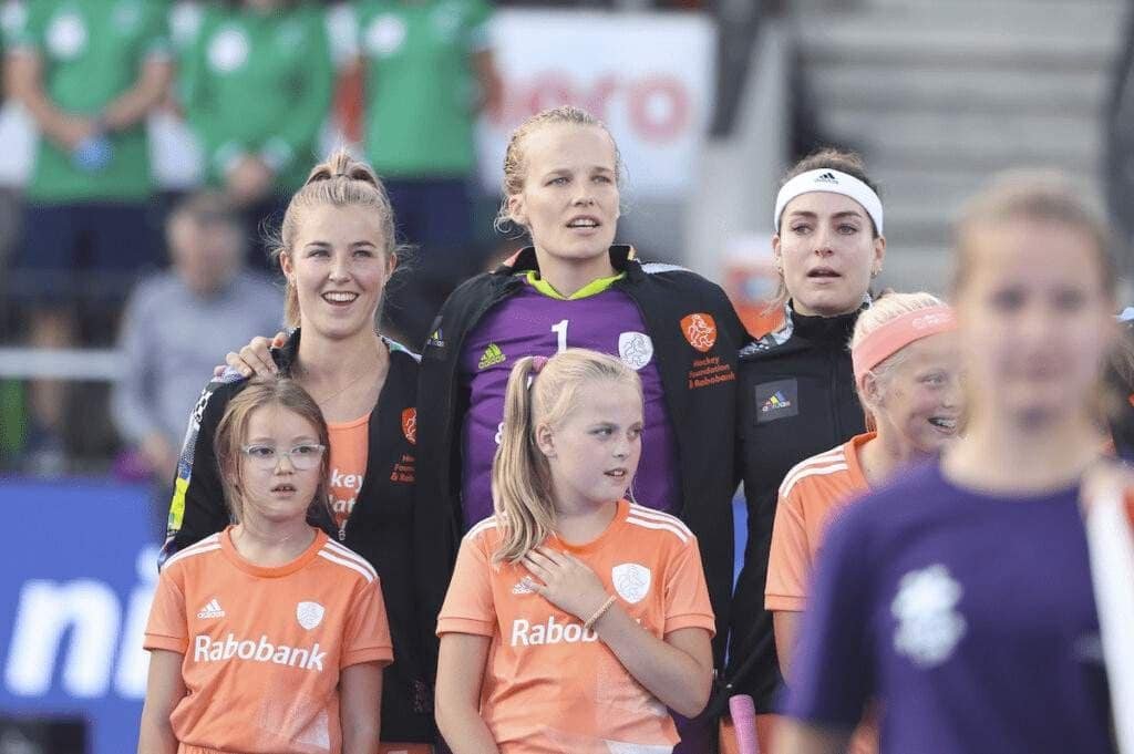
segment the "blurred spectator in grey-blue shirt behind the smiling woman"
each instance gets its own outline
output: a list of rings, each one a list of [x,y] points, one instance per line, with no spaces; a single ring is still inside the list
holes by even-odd
[[[218,355],[276,332],[284,306],[276,286],[244,269],[244,229],[223,195],[179,204],[167,243],[172,269],[130,295],[119,336],[127,372],[112,397],[118,431],[162,483]]]

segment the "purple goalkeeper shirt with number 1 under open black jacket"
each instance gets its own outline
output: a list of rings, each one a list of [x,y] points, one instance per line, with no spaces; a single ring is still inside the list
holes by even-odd
[[[666,409],[657,357],[642,313],[611,288],[621,276],[595,281],[567,300],[528,274],[528,285],[493,306],[465,339],[460,384],[469,391],[462,429],[462,507],[465,527],[492,515],[492,458],[500,441],[505,388],[516,359],[590,348],[637,370],[645,397],[642,460],[632,491],[659,510],[678,507],[677,446]],[[542,290],[541,290],[542,289]]]

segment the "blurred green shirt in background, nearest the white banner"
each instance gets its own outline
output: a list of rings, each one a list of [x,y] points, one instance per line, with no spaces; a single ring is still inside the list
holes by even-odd
[[[355,0],[366,66],[366,158],[383,177],[467,176],[489,46],[485,0]]]

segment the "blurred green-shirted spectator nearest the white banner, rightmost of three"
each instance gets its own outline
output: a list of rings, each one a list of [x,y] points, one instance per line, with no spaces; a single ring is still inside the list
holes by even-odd
[[[366,159],[382,176],[401,239],[420,247],[387,312],[408,342],[454,287],[479,272],[472,245],[473,122],[501,84],[488,0],[355,0],[365,66]]]

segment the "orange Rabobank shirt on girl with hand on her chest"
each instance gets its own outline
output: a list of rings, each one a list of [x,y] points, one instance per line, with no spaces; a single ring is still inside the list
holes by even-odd
[[[493,564],[497,517],[465,536],[438,619],[438,634],[492,638],[481,715],[501,754],[663,754],[674,722],[575,616],[532,588],[519,565]],[[619,604],[662,638],[679,628],[713,633],[696,537],[674,516],[625,500],[594,541],[544,547],[586,562]]]

